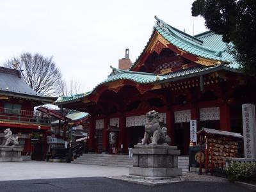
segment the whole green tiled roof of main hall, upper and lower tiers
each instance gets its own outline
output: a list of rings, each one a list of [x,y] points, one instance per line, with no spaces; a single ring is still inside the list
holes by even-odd
[[[209,72],[214,72],[217,70],[230,70],[233,72],[239,72],[236,68],[238,64],[227,52],[227,44],[222,41],[221,35],[216,35],[211,31],[206,31],[195,36],[188,35],[179,29],[173,28],[172,26],[163,22],[163,20],[156,17],[156,26],[154,26],[154,31],[150,40],[154,36],[154,32],[157,31],[160,35],[163,36],[170,44],[179,47],[183,51],[189,52],[195,56],[200,56],[202,58],[207,58],[211,60],[221,61],[222,65],[215,65],[211,67],[205,67],[204,65],[198,65],[196,67],[187,68],[184,70],[179,70],[171,72],[170,74],[164,74],[157,76],[156,74],[145,73],[145,72],[134,72],[132,67],[134,67],[139,58],[132,64],[129,70],[120,70],[114,67],[112,68],[111,74],[107,79],[98,84],[92,92],[82,93],[78,95],[72,95],[70,97],[62,97],[58,102],[66,102],[70,100],[79,100],[84,98],[91,93],[93,93],[100,85],[105,83],[110,83],[113,81],[120,80],[129,80],[138,84],[147,84],[147,83],[165,83],[168,81],[177,81],[179,79],[189,78],[192,76],[198,76],[201,74],[207,74]],[[147,49],[148,44],[143,52]],[[231,44],[230,44],[231,45]],[[143,54],[141,52],[141,55]],[[141,56],[140,55],[140,56]],[[234,68],[234,69],[233,69]],[[58,103],[57,102],[57,103]]]

